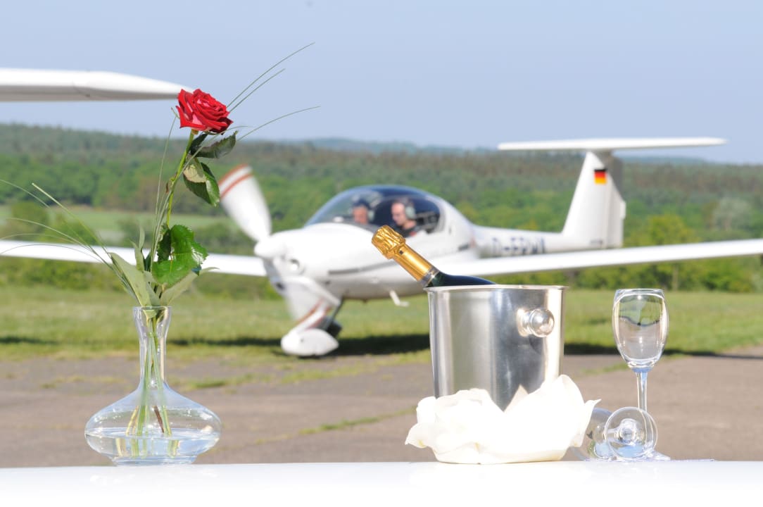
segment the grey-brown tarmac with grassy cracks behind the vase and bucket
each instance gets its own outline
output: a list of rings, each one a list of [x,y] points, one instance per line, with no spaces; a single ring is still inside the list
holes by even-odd
[[[431,396],[428,361],[333,355],[275,364],[172,362],[168,381],[223,421],[196,463],[432,461],[405,445]],[[86,421],[137,384],[137,359],[0,361],[0,467],[108,465],[85,442]],[[584,399],[636,405],[636,377],[617,354],[567,354],[563,373]],[[201,388],[199,380],[214,379]],[[649,373],[657,449],[674,460],[763,460],[763,347],[665,356]],[[576,459],[568,452],[565,460]]]

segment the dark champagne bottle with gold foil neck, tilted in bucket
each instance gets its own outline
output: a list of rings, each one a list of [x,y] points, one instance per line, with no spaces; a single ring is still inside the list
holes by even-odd
[[[428,260],[405,243],[404,237],[388,225],[382,225],[371,239],[382,255],[392,259],[401,266],[421,285],[427,287],[462,286],[462,285],[492,285],[490,280],[476,276],[459,276],[443,273]]]

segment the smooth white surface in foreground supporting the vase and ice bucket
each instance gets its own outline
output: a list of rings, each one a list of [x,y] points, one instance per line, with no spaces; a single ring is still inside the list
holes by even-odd
[[[763,461],[0,469],[0,505],[761,505],[761,493]]]

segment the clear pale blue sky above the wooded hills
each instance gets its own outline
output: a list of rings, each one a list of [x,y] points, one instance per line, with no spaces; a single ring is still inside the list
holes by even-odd
[[[227,102],[255,137],[495,147],[579,137],[725,137],[662,150],[763,163],[763,2],[12,2],[0,65],[110,70]],[[172,101],[0,104],[0,121],[164,136]]]

